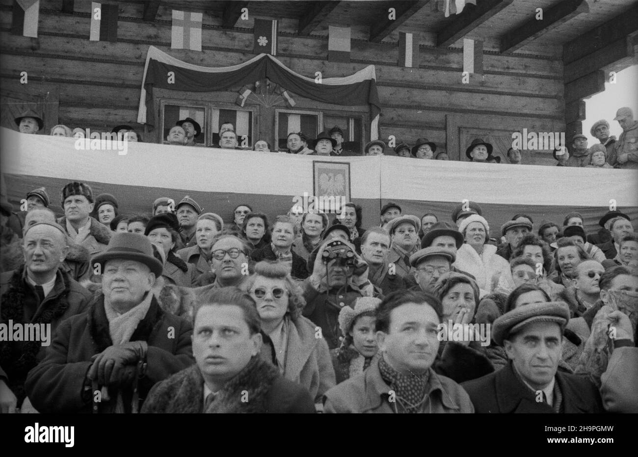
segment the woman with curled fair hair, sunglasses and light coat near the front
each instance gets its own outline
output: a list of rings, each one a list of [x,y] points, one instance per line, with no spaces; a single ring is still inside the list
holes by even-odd
[[[315,324],[301,315],[306,305],[301,287],[285,265],[259,262],[249,277],[248,293],[256,303],[264,342],[262,357],[279,368],[281,374],[308,389],[317,405],[335,385],[328,344],[317,338]]]

